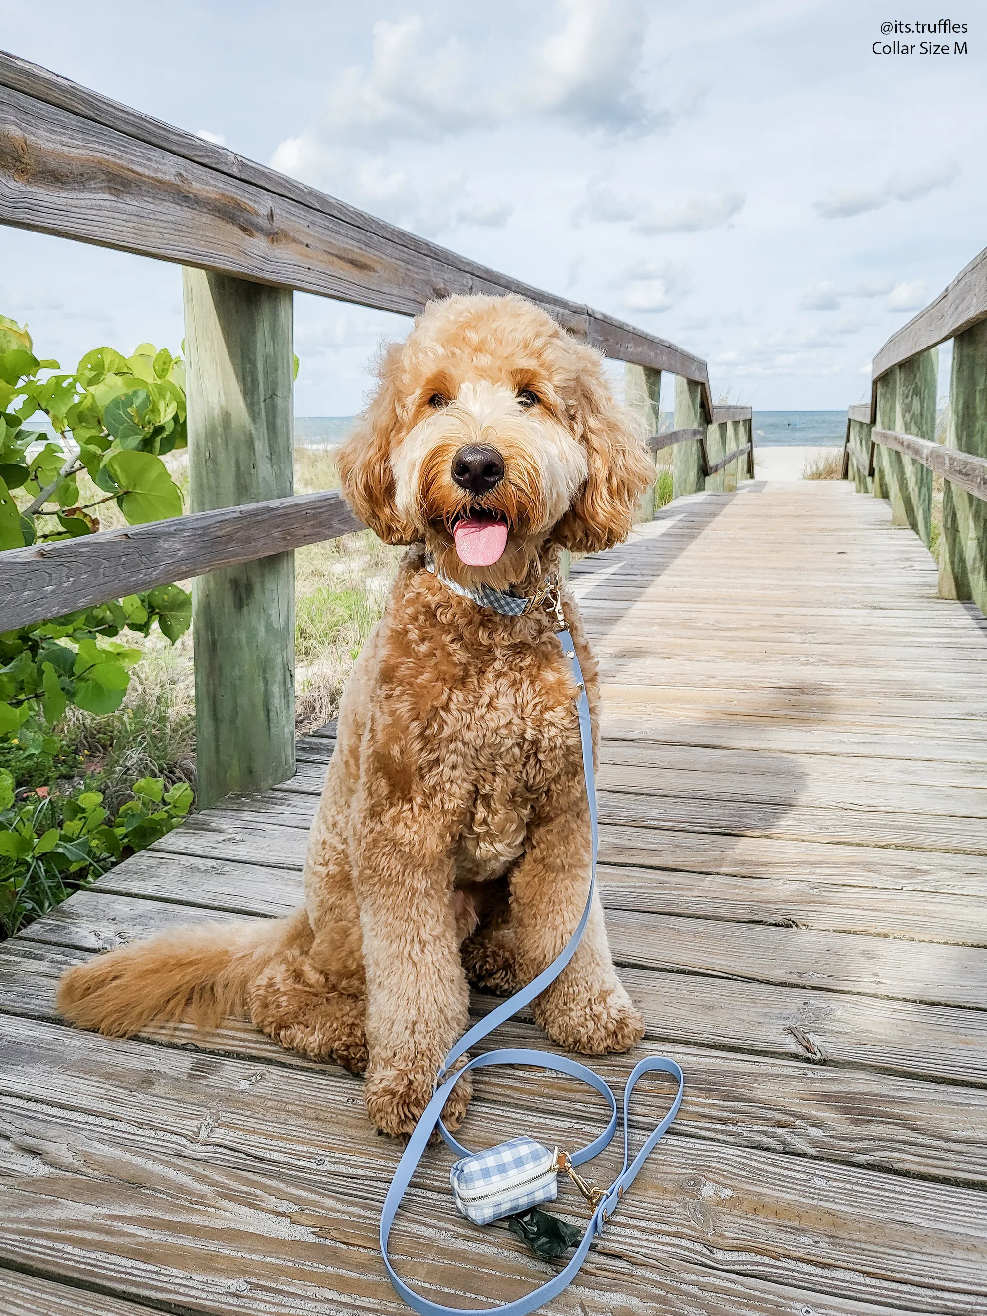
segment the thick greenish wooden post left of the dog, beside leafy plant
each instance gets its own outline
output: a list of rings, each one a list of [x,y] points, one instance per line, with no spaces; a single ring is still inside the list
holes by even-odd
[[[186,268],[193,512],[293,491],[292,292]],[[293,553],[195,583],[199,801],[295,771]]]

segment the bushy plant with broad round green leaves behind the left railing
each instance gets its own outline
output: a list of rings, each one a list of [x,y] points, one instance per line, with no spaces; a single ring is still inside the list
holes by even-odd
[[[93,534],[116,501],[130,525],[179,516],[182,492],[162,455],[184,447],[184,366],[153,343],[130,357],[96,347],[74,374],[34,355],[28,328],[0,316],[0,551]],[[54,438],[30,426],[43,415]],[[99,495],[80,501],[87,472]],[[157,622],[172,642],[192,620],[175,584],[0,630],[0,742],[53,753],[47,732],[68,703],[118,708],[141,650],[116,637]],[[3,626],[3,617],[0,617]]]

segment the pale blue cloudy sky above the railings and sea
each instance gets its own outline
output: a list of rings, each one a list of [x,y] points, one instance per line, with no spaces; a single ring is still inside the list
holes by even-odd
[[[938,17],[912,8],[137,0],[122,22],[38,0],[4,7],[1,41],[671,340],[715,399],[821,409],[869,395],[880,345],[987,242],[987,9],[948,11],[966,33],[882,36]],[[4,228],[0,315],[63,366],[175,350],[180,271]],[[408,324],[296,295],[296,415],[357,412]]]

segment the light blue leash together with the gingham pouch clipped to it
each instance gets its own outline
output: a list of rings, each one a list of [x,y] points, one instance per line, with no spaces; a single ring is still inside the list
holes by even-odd
[[[551,1298],[555,1298],[565,1288],[567,1288],[579,1273],[579,1267],[583,1265],[594,1238],[603,1230],[605,1221],[616,1211],[621,1195],[630,1186],[630,1183],[633,1183],[638,1170],[650,1155],[655,1144],[675,1119],[678,1108],[682,1103],[682,1070],[675,1061],[654,1055],[641,1061],[640,1065],[636,1065],[626,1082],[626,1087],[624,1088],[624,1166],[621,1173],[608,1188],[596,1188],[586,1183],[586,1180],[575,1171],[576,1166],[591,1161],[609,1144],[613,1137],[617,1128],[617,1099],[611,1091],[609,1084],[591,1069],[586,1065],[570,1061],[565,1055],[551,1055],[547,1051],[508,1048],[497,1051],[487,1051],[484,1055],[476,1055],[474,1059],[463,1065],[462,1069],[450,1074],[455,1062],[465,1055],[472,1045],[491,1033],[499,1024],[503,1024],[504,1020],[511,1019],[520,1009],[528,1005],[536,996],[545,991],[549,983],[558,978],[575,954],[579,940],[586,929],[587,920],[590,919],[594,891],[596,888],[597,850],[596,787],[594,784],[590,704],[586,697],[586,687],[583,683],[583,674],[579,667],[579,659],[576,658],[575,645],[571,634],[567,629],[565,629],[561,609],[557,609],[557,616],[559,625],[555,636],[562,645],[563,655],[569,661],[578,690],[576,711],[579,713],[579,736],[583,747],[583,772],[586,775],[586,795],[590,801],[590,822],[592,834],[590,891],[586,898],[586,908],[583,909],[579,924],[558,958],[553,961],[553,963],[549,965],[549,967],[533,982],[528,983],[528,986],[522,987],[519,992],[515,992],[513,996],[497,1005],[492,1013],[487,1015],[482,1023],[471,1028],[449,1051],[436,1078],[434,1095],[425,1107],[415,1132],[408,1140],[404,1155],[401,1157],[397,1170],[395,1171],[393,1180],[391,1182],[391,1187],[388,1188],[387,1198],[384,1200],[384,1208],[380,1213],[380,1252],[395,1290],[409,1307],[412,1307],[416,1312],[421,1312],[421,1316],[490,1316],[491,1312],[496,1312],[499,1316],[525,1316],[526,1312],[534,1311],[537,1307],[541,1307],[542,1303],[549,1302]],[[490,1065],[532,1065],[538,1069],[570,1074],[572,1078],[582,1079],[582,1082],[587,1083],[609,1103],[611,1119],[607,1128],[587,1146],[572,1153],[559,1152],[557,1148],[551,1149],[542,1146],[540,1142],[536,1142],[534,1138],[525,1136],[513,1138],[509,1142],[501,1142],[499,1146],[488,1148],[486,1152],[468,1152],[465,1146],[457,1142],[453,1134],[442,1124],[442,1107],[463,1074],[475,1069],[486,1069]],[[665,1119],[644,1144],[634,1159],[630,1161],[628,1137],[628,1107],[630,1103],[630,1094],[634,1090],[634,1084],[644,1074],[654,1071],[671,1074],[678,1082],[678,1091],[675,1092],[675,1098]],[[490,1224],[491,1221],[500,1220],[504,1216],[515,1216],[519,1212],[528,1211],[529,1208],[537,1207],[545,1202],[554,1202],[558,1191],[559,1173],[567,1174],[587,1199],[592,1215],[586,1230],[583,1232],[583,1237],[571,1261],[562,1270],[559,1270],[558,1274],[547,1280],[547,1283],[541,1284],[533,1292],[524,1298],[519,1298],[512,1303],[503,1303],[499,1307],[467,1309],[462,1307],[443,1307],[441,1303],[433,1303],[428,1298],[422,1298],[420,1294],[416,1294],[415,1290],[409,1288],[408,1284],[405,1284],[404,1280],[396,1274],[387,1255],[387,1242],[391,1234],[391,1227],[395,1216],[397,1215],[401,1199],[404,1198],[408,1184],[411,1183],[411,1178],[421,1161],[425,1148],[428,1146],[429,1137],[436,1128],[438,1128],[438,1132],[442,1134],[446,1144],[453,1149],[453,1152],[458,1153],[461,1158],[455,1162],[450,1173],[453,1199],[462,1215],[478,1225]],[[561,1224],[562,1228],[570,1229],[570,1227],[563,1223]]]

